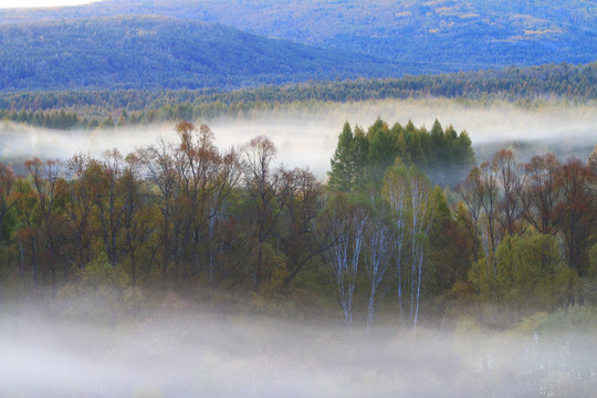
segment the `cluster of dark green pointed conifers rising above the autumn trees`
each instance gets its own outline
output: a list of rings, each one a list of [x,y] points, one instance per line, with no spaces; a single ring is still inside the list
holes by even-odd
[[[431,130],[396,123],[391,128],[381,118],[365,130],[346,123],[338,137],[336,151],[331,160],[328,186],[333,190],[350,192],[364,185],[380,184],[386,169],[396,161],[415,165],[431,181],[455,186],[475,164],[472,142],[467,132],[458,134],[452,126],[446,130],[438,119]]]

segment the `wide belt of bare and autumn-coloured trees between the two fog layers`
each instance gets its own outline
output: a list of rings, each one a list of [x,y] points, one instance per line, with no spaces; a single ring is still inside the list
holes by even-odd
[[[205,125],[177,132],[127,156],[31,159],[21,177],[2,165],[0,293],[107,286],[124,303],[144,289],[294,286],[369,331],[380,307],[410,327],[447,314],[498,326],[595,302],[597,151],[520,165],[501,150],[457,193],[397,161],[343,191],[276,167],[266,137],[221,151]]]

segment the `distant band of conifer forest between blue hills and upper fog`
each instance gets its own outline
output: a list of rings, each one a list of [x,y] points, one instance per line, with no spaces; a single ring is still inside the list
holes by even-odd
[[[287,86],[224,92],[214,88],[180,91],[62,91],[0,94],[0,118],[44,125],[42,117],[75,114],[70,128],[238,116],[280,105],[316,107],[322,102],[405,100],[428,96],[463,97],[484,102],[597,100],[597,63],[510,67],[481,72],[405,76],[388,80],[311,82]],[[49,123],[48,126],[54,125]],[[60,123],[59,123],[60,125]],[[67,127],[69,128],[69,127]]]

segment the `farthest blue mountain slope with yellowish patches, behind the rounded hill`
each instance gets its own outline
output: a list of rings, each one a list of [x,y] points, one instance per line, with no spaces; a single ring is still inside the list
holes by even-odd
[[[107,0],[3,10],[0,23],[119,14],[217,22],[369,54],[400,63],[400,74],[597,60],[597,2],[585,0]]]

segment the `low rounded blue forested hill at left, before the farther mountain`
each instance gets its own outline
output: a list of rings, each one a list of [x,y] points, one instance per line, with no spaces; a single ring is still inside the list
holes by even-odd
[[[398,73],[373,56],[166,17],[2,25],[0,59],[2,91],[234,88]]]

